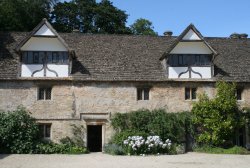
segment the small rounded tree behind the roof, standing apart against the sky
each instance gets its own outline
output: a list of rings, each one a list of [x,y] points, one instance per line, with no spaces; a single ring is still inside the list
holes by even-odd
[[[157,36],[157,33],[153,30],[152,22],[147,19],[137,19],[134,24],[130,26],[133,34],[136,35],[153,35]]]

